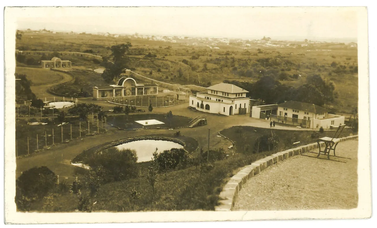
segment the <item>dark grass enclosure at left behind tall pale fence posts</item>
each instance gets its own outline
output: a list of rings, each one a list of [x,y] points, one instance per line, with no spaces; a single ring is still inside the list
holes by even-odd
[[[16,121],[16,154],[18,156],[28,154],[28,138],[29,138],[29,154],[34,153],[37,148],[40,150],[43,147],[52,146],[54,144],[65,142],[66,140],[71,139],[70,128],[72,126],[72,139],[80,137],[80,123],[81,123],[81,137],[86,137],[88,134],[88,123],[80,121],[78,118],[66,118],[63,126],[57,126],[60,123],[57,123],[56,120],[46,120],[43,119],[39,122],[48,123],[46,125],[28,125],[26,120]],[[29,120],[29,122],[32,122]],[[33,120],[34,122],[34,120]],[[100,132],[104,132],[105,129],[101,129],[102,125],[99,122]],[[104,127],[105,128],[105,127]],[[62,130],[63,129],[63,140],[62,140]],[[54,140],[52,137],[52,130],[54,130]],[[97,132],[97,123],[90,123],[89,125],[90,134]],[[38,147],[37,147],[37,135],[38,135]]]

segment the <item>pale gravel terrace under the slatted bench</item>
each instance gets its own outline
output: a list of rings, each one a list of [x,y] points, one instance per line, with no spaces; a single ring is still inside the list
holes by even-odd
[[[356,208],[357,149],[357,140],[338,144],[336,155],[352,160],[337,160],[347,163],[297,155],[270,166],[247,181],[236,198],[233,210]]]

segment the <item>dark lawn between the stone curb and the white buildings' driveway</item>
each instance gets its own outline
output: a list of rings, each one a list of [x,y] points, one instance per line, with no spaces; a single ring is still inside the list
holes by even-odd
[[[276,149],[277,152],[314,143],[318,138],[326,136],[333,137],[335,134],[335,131],[324,131],[323,133],[316,131],[319,134],[318,137],[312,138],[311,134],[313,131],[255,128],[251,126],[234,126],[224,129],[220,133],[236,143],[237,152],[253,152],[255,149],[256,138],[262,135],[268,135],[271,137],[271,132],[279,137],[279,146]],[[350,128],[346,128],[343,129],[342,134],[340,134],[339,137],[349,136],[351,133],[355,134]],[[295,144],[295,146],[292,145],[292,142],[298,141],[300,142],[299,144]]]

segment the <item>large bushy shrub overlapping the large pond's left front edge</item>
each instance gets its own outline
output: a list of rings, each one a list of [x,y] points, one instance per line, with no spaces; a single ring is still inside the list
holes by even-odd
[[[137,175],[136,161],[138,157],[135,150],[119,150],[110,147],[93,153],[84,163],[92,168],[101,167],[104,182],[121,181]]]

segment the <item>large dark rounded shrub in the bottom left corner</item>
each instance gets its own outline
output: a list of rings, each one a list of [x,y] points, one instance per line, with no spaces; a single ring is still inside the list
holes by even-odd
[[[57,176],[48,167],[34,167],[16,180],[15,203],[20,211],[28,211],[31,202],[43,199],[55,187]]]

